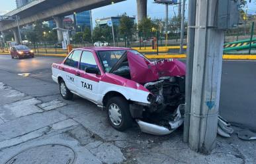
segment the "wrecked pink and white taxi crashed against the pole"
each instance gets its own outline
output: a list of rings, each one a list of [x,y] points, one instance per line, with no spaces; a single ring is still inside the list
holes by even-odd
[[[52,64],[52,79],[64,99],[73,94],[107,109],[109,123],[126,130],[165,135],[183,123],[185,64],[176,59],[149,61],[133,49],[73,49]]]

